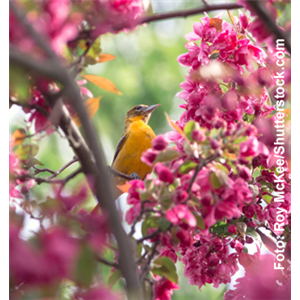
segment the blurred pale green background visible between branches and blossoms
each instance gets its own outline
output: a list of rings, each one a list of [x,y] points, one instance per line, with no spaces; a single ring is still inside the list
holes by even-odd
[[[209,3],[224,2],[209,1]],[[200,0],[152,1],[154,12],[189,9],[201,5]],[[217,13],[212,12],[209,15],[214,16]],[[237,11],[232,11],[232,13],[238,15]],[[92,121],[99,132],[107,164],[111,163],[115,147],[123,134],[126,112],[134,105],[161,103],[149,122],[156,134],[171,130],[164,112],[167,112],[173,120],[179,119],[183,110],[178,106],[184,101],[176,98],[175,95],[181,90],[179,83],[185,80],[183,76],[187,74],[188,69],[178,64],[177,57],[186,52],[184,35],[192,31],[193,23],[199,21],[201,17],[203,15],[161,21],[139,26],[130,33],[106,34],[101,37],[102,52],[113,54],[116,59],[89,66],[85,73],[108,78],[123,93],[122,96],[118,96],[91,83],[87,85],[95,97],[102,95],[100,108]],[[226,11],[223,12],[223,18],[229,21]],[[26,125],[24,114],[17,107],[11,109],[10,120],[11,132],[19,127],[24,128]],[[57,133],[42,139],[39,145],[40,151],[37,158],[50,169],[59,169],[73,157],[67,140]],[[61,177],[65,177],[77,167],[78,164],[72,165],[62,173]],[[68,184],[68,187],[78,185],[82,178],[83,176],[76,177]],[[32,197],[42,200],[49,192],[51,191],[48,186],[36,186],[32,190]],[[95,200],[91,197],[87,206],[92,207],[94,203]],[[180,290],[174,291],[173,300],[223,299],[225,285],[218,289],[212,286],[203,287],[200,292],[198,287],[188,284],[187,278],[183,276],[183,266],[180,262],[177,263],[177,268]]]

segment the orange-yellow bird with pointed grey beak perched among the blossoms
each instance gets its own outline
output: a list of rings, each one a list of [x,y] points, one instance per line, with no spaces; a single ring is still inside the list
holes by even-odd
[[[124,134],[117,144],[111,168],[132,178],[144,180],[151,173],[152,168],[141,161],[144,151],[151,148],[151,141],[156,137],[153,129],[148,125],[152,112],[160,104],[147,106],[139,104],[132,107],[126,114]],[[126,179],[113,178],[113,185],[125,184]],[[116,192],[118,196],[120,191]],[[96,207],[91,211],[97,210]]]

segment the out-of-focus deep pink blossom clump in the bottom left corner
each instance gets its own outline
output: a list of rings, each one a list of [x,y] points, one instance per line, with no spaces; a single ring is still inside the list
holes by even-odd
[[[20,226],[9,224],[9,272],[15,285],[51,284],[71,278],[79,244],[65,229],[54,227],[40,232],[37,245],[20,238]]]

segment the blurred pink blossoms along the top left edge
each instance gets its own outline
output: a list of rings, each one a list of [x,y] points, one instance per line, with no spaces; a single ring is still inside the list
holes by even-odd
[[[20,6],[28,11],[27,21],[48,38],[59,56],[63,56],[68,42],[74,41],[86,26],[83,21],[93,27],[92,38],[96,38],[107,32],[132,30],[143,12],[142,0],[46,0],[35,6],[23,3]],[[22,51],[41,54],[12,11],[9,12],[9,42]],[[73,45],[69,43],[69,46],[72,48]]]

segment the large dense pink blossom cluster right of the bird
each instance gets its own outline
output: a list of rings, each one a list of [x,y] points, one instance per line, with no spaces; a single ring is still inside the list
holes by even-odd
[[[283,223],[288,224],[289,194],[284,202],[272,199],[274,133],[269,129],[274,128],[276,117],[266,119],[275,110],[268,93],[274,87],[272,53],[267,57],[247,38],[250,27],[249,19],[241,12],[239,18],[234,17],[234,26],[220,15],[206,15],[194,23],[193,32],[186,35],[188,53],[178,57],[181,65],[190,68],[186,81],[180,84],[183,90],[177,94],[186,102],[180,106],[184,112],[173,126],[174,131],[157,136],[141,158],[157,176],[146,178],[142,193],[161,205],[159,212],[176,228],[172,239],[166,232],[151,241],[159,239],[161,255],[174,261],[175,252],[181,250],[185,276],[199,288],[206,283],[218,286],[230,282],[238,269],[237,258],[242,260],[245,256],[244,244],[253,242],[250,236],[231,241],[213,236],[209,228],[218,221],[229,223],[243,214],[248,227],[256,227],[250,221],[255,217],[260,222],[267,221],[265,224],[277,233],[274,224],[280,210]],[[176,146],[168,148],[170,142]],[[219,154],[223,161],[202,166],[195,175],[195,166],[212,153]],[[189,165],[185,171],[184,166]],[[257,167],[261,175],[255,178]],[[287,191],[286,174],[284,178]],[[264,197],[267,204],[263,204]],[[138,194],[135,198],[139,198]],[[139,215],[140,200],[131,204],[131,212]],[[153,228],[148,233],[151,232]],[[233,224],[228,226],[228,233],[239,235]],[[198,241],[193,243],[196,238]],[[229,254],[229,243],[237,253]]]

